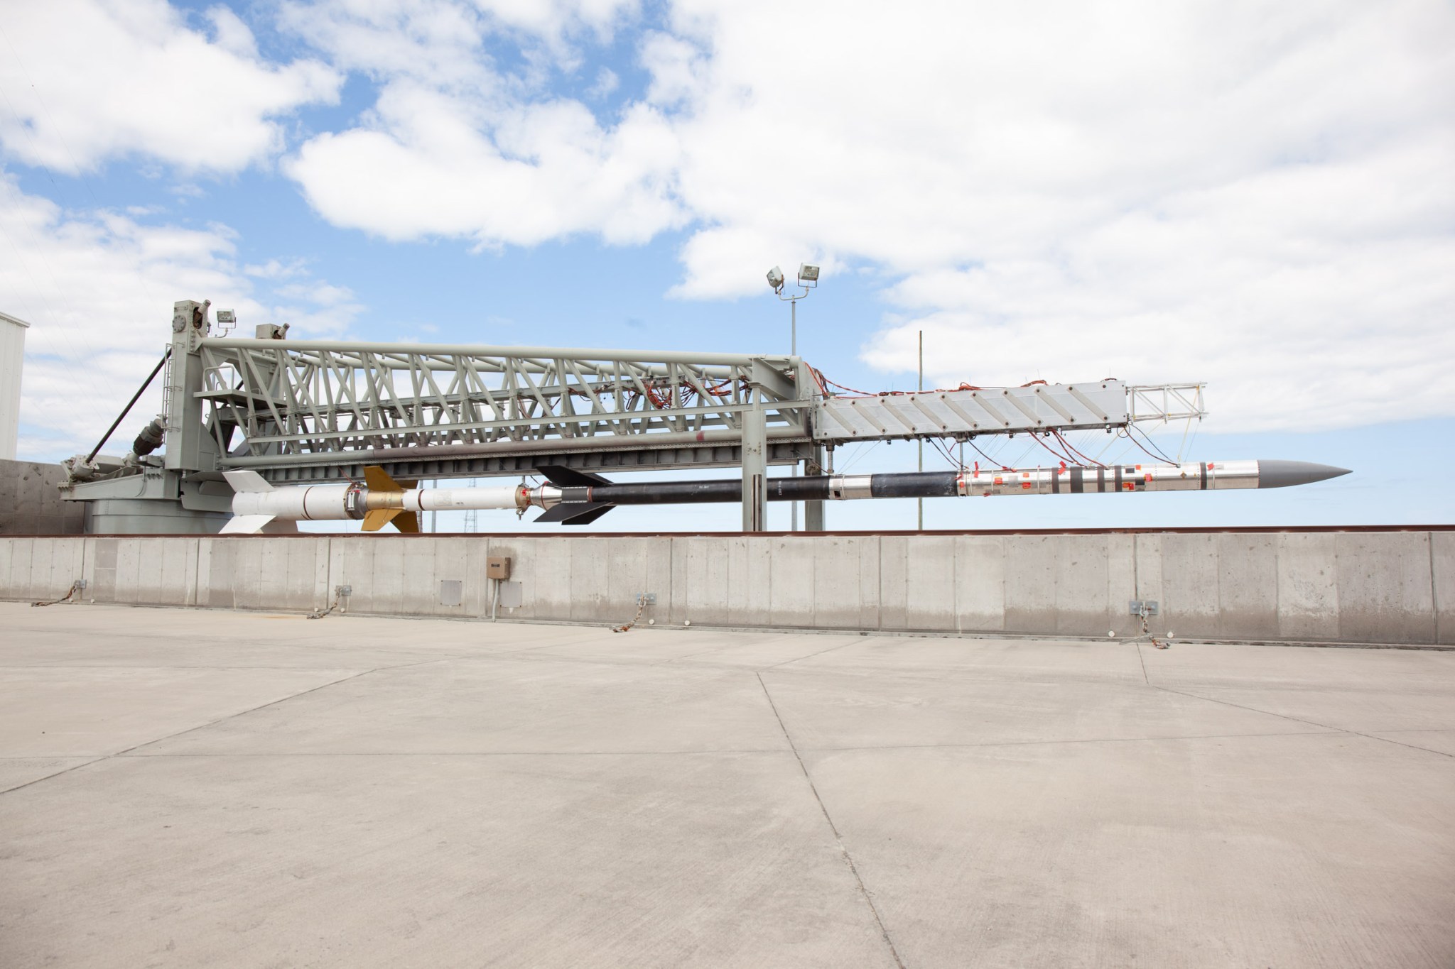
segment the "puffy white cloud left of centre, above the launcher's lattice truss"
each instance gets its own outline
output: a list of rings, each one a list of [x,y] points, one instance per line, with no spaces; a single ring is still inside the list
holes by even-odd
[[[409,81],[380,96],[377,126],[320,135],[287,163],[335,225],[386,238],[458,235],[533,246],[572,232],[643,243],[681,222],[671,200],[677,144],[637,106],[602,131],[579,102],[519,106],[489,137],[460,99]]]

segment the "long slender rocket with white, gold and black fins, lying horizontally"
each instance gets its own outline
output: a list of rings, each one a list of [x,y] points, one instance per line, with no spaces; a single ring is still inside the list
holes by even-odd
[[[259,532],[274,522],[365,520],[375,530],[400,517],[402,530],[418,530],[415,513],[544,508],[538,522],[585,524],[620,504],[707,504],[742,501],[736,479],[615,484],[567,468],[540,468],[550,484],[485,488],[413,488],[393,482],[378,468],[370,484],[274,488],[258,472],[224,472],[236,494],[233,520],[223,532]],[[1148,465],[1061,465],[1058,468],[979,466],[885,475],[770,478],[770,501],[847,501],[858,498],[938,498],[1023,494],[1123,494],[1138,491],[1222,491],[1282,488],[1349,474],[1343,468],[1296,461],[1225,461]],[[377,523],[372,523],[377,522]],[[413,523],[407,526],[404,523]]]

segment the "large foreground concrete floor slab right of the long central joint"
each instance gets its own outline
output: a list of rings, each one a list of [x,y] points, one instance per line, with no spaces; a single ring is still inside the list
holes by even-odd
[[[806,754],[905,966],[1455,963],[1455,770],[1349,735]]]

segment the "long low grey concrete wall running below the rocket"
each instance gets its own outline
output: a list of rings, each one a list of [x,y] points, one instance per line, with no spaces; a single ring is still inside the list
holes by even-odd
[[[1117,636],[1131,599],[1186,639],[1455,644],[1455,527],[704,536],[0,538],[0,597],[480,617]],[[442,596],[442,583],[458,583]],[[448,587],[450,591],[453,587]]]

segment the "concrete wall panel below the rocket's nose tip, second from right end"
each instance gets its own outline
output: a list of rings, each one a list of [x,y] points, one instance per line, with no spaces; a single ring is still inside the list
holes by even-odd
[[[1429,532],[1343,532],[1334,548],[1340,639],[1435,641]]]

